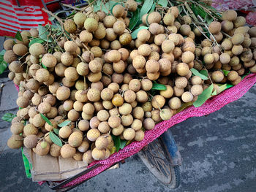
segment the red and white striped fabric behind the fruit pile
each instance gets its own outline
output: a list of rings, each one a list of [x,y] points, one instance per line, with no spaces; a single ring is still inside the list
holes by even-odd
[[[48,23],[41,0],[0,0],[0,36],[14,37],[17,31]]]

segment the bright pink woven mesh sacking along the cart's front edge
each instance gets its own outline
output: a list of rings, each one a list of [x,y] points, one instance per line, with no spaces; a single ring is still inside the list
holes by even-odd
[[[181,123],[184,120],[187,120],[187,118],[208,115],[211,112],[215,112],[221,109],[226,104],[229,104],[232,101],[236,101],[237,99],[241,98],[241,96],[244,96],[244,94],[249,91],[249,89],[252,88],[255,83],[256,74],[249,74],[238,85],[229,88],[226,91],[223,91],[222,93],[212,97],[211,99],[208,99],[208,101],[206,101],[206,103],[203,104],[201,107],[189,107],[186,110],[174,115],[172,118],[170,118],[170,120],[165,120],[161,123],[158,123],[152,130],[145,132],[145,138],[143,139],[143,141],[132,142],[130,145],[127,145],[127,147],[124,147],[123,150],[119,150],[118,153],[114,153],[113,155],[111,155],[108,159],[102,161],[94,161],[90,164],[89,167],[93,166],[94,164],[102,164],[102,166],[99,166],[91,172],[78,177],[76,180],[67,183],[66,185],[64,185],[64,187],[77,185],[84,180],[88,180],[89,178],[94,177],[97,174],[105,171],[114,163],[128,158],[132,155],[135,155],[135,153],[138,153],[143,147],[148,145],[150,142],[153,142],[154,139],[157,139],[157,137],[167,131],[168,128],[178,123]]]

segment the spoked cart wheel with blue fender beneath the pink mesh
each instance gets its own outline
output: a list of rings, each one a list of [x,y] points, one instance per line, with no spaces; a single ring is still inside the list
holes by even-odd
[[[155,139],[140,150],[138,155],[162,184],[168,188],[178,188],[181,179],[179,166],[170,165],[170,153],[161,139]]]

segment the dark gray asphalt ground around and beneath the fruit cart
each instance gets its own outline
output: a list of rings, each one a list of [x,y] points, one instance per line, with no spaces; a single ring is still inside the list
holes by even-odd
[[[1,74],[0,117],[18,110],[17,91]],[[256,191],[256,86],[241,99],[207,117],[171,128],[183,157],[181,186],[174,191]],[[20,150],[4,147],[10,123],[0,119],[0,191],[50,191],[26,178]],[[4,147],[4,150],[3,150]],[[148,171],[138,155],[72,191],[170,191]]]

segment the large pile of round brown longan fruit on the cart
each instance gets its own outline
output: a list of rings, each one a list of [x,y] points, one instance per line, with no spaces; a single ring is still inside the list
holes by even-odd
[[[9,147],[24,145],[38,155],[90,164],[113,153],[111,134],[140,142],[145,130],[196,101],[211,81],[219,93],[216,83],[236,85],[245,72],[256,72],[256,28],[245,26],[235,11],[208,26],[212,41],[203,38],[202,26],[192,29],[191,18],[180,17],[177,7],[163,17],[159,12],[143,15],[141,26],[148,29],[133,40],[127,11],[136,9],[129,0],[124,7],[116,4],[109,15],[90,7],[76,13],[64,22],[70,39],[61,37],[53,54],[39,43],[28,46],[29,37],[38,37],[37,29],[22,31],[22,42],[4,42],[9,77],[20,86]],[[192,76],[192,68],[206,69],[211,80]],[[222,70],[230,72],[225,76]],[[155,82],[166,90],[152,91]],[[50,139],[56,128],[62,147]]]

